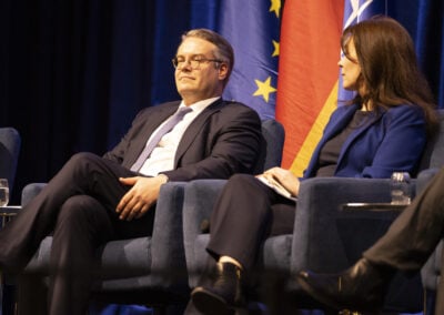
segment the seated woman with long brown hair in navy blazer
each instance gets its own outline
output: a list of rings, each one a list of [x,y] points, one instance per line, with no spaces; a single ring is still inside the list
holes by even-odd
[[[339,61],[344,89],[355,98],[336,109],[302,179],[273,167],[260,177],[297,196],[313,176],[390,177],[416,171],[436,116],[407,31],[390,18],[344,30]],[[192,291],[189,309],[231,314],[244,303],[242,285],[271,235],[293,231],[295,202],[251,175],[232,176],[215,203],[206,247],[208,274]]]

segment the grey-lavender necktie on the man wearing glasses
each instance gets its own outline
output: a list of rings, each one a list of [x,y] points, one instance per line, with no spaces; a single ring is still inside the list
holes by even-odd
[[[154,148],[158,145],[160,140],[162,139],[163,135],[169,133],[174,125],[176,125],[183,116],[191,112],[192,109],[184,106],[180,108],[179,111],[176,111],[169,120],[168,122],[162,125],[161,129],[155,133],[155,135],[150,140],[150,142],[145,145],[145,149],[143,149],[142,153],[140,153],[138,160],[135,163],[131,166],[131,171],[133,172],[139,172],[139,170],[142,167],[143,163],[150,156],[151,152],[154,150]]]

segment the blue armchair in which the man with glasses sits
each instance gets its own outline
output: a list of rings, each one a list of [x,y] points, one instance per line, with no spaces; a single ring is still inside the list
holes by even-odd
[[[264,164],[280,164],[284,139],[282,125],[274,120],[265,120],[262,133],[266,142]],[[162,312],[174,312],[186,304],[190,288],[183,248],[182,205],[188,184],[170,182],[162,185],[151,237],[105,244],[100,252],[103,270],[119,268],[124,272],[119,278],[97,282],[93,298],[109,303],[144,304]],[[43,186],[44,183],[27,185],[22,191],[22,204],[27,204]],[[51,236],[42,241],[26,272],[44,271],[51,243]]]

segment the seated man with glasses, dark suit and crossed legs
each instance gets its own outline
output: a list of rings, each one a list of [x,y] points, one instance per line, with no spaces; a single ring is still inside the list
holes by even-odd
[[[173,59],[182,101],[142,110],[102,158],[73,155],[0,232],[0,266],[12,272],[53,232],[50,314],[85,313],[95,250],[110,240],[150,235],[163,183],[228,179],[258,167],[258,114],[221,99],[233,62],[230,43],[219,34],[185,33]]]

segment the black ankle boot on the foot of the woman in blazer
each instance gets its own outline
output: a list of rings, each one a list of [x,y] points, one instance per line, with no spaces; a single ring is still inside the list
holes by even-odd
[[[210,283],[195,287],[191,299],[203,314],[234,314],[234,308],[244,306],[241,268],[231,263],[218,263]]]

